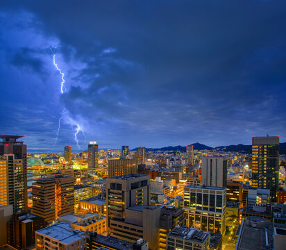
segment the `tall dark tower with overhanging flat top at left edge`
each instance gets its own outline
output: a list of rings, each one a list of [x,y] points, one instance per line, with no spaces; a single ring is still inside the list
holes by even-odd
[[[17,139],[20,135],[0,135],[0,157],[7,165],[7,199],[14,212],[28,209],[27,146]],[[3,164],[3,163],[2,163]]]

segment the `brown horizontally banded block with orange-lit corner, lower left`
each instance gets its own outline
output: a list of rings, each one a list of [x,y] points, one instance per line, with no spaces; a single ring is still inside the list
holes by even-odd
[[[32,213],[44,217],[46,222],[74,213],[74,178],[56,176],[37,180],[32,185],[32,199]]]

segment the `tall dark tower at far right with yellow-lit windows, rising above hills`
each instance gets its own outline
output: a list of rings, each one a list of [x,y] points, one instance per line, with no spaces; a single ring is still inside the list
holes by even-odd
[[[252,185],[270,190],[272,202],[277,201],[279,173],[279,136],[252,138]]]

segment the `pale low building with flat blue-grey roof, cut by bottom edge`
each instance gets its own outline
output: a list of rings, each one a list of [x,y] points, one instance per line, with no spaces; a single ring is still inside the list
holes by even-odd
[[[53,224],[35,232],[37,250],[85,250],[86,233],[72,231],[67,223]]]

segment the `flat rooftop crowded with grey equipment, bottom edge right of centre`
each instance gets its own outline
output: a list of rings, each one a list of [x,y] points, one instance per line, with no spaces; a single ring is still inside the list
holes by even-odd
[[[209,232],[201,231],[196,228],[186,228],[183,226],[176,227],[167,234],[169,237],[191,240],[199,243],[205,242],[209,235]]]

